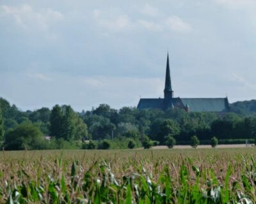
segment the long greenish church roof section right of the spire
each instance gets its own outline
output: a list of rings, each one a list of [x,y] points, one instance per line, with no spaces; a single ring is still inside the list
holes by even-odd
[[[189,112],[228,112],[227,98],[180,98]]]

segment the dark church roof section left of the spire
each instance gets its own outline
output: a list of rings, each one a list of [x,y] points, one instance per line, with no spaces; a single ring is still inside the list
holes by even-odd
[[[163,98],[141,98],[137,106],[138,109],[147,109],[147,108],[164,108],[164,99]]]

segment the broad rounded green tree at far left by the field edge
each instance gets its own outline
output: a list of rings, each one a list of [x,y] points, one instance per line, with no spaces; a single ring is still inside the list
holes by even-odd
[[[6,150],[40,149],[42,142],[44,142],[42,133],[32,124],[20,124],[4,135]]]

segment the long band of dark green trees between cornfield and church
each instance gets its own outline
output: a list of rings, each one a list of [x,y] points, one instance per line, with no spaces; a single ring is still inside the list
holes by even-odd
[[[68,105],[22,112],[0,98],[0,145],[6,150],[122,149],[148,141],[163,145],[170,137],[177,144],[188,144],[195,135],[201,144],[213,136],[225,143],[253,139],[256,114],[187,113],[179,108],[115,110],[104,104],[81,113]]]

